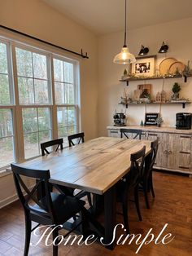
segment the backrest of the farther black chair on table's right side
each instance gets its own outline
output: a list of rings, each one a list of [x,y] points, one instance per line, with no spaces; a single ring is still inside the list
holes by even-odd
[[[158,152],[158,147],[159,147],[159,139],[155,139],[154,141],[151,142],[151,152],[148,156],[146,156],[146,159],[145,159],[144,175],[146,177],[149,176],[151,170],[153,169],[157,152]]]

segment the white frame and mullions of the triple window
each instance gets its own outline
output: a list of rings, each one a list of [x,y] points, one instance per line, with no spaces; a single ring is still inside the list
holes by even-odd
[[[24,42],[15,41],[10,38],[5,38],[0,36],[0,42],[7,44],[7,64],[9,75],[9,85],[10,85],[10,95],[11,104],[0,105],[0,108],[9,108],[12,113],[12,124],[13,124],[13,136],[14,136],[14,153],[15,162],[26,161],[24,159],[24,131],[23,131],[23,120],[22,120],[22,109],[23,108],[49,108],[50,109],[50,133],[52,139],[58,138],[58,123],[57,123],[57,108],[58,107],[75,107],[76,109],[76,131],[80,129],[80,79],[79,70],[80,62],[78,60],[70,59],[64,55],[60,55],[54,49],[50,51],[44,50],[43,46],[33,46],[26,44]],[[47,80],[48,80],[48,94],[49,94],[49,104],[20,104],[19,102],[19,90],[17,81],[17,69],[16,69],[16,56],[15,50],[17,48],[24,49],[26,51],[33,51],[37,54],[46,55],[47,64]],[[67,61],[73,64],[73,77],[74,77],[74,94],[75,94],[75,104],[55,104],[55,83],[54,83],[54,66],[53,60],[59,59]],[[22,77],[22,76],[21,76]],[[32,77],[33,79],[35,77]],[[38,133],[39,131],[37,131]],[[38,156],[37,156],[38,157]],[[32,157],[35,158],[35,157]],[[31,158],[28,158],[29,160]],[[5,170],[8,166],[3,166],[0,169]]]

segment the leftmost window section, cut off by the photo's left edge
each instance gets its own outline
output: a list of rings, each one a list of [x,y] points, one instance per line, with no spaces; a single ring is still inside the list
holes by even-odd
[[[15,161],[10,46],[0,41],[0,170]]]

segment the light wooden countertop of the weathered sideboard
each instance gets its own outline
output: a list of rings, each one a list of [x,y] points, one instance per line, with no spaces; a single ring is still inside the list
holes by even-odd
[[[192,129],[190,130],[178,130],[175,127],[157,127],[157,126],[107,126],[107,130],[120,130],[120,128],[127,129],[141,129],[146,131],[155,131],[155,132],[168,132],[175,134],[186,134],[192,135]]]

